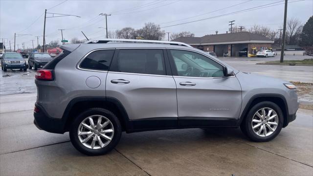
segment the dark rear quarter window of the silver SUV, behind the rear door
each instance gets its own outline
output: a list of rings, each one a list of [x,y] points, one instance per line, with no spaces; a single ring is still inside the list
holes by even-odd
[[[109,70],[114,50],[98,50],[90,53],[80,64],[81,68]]]

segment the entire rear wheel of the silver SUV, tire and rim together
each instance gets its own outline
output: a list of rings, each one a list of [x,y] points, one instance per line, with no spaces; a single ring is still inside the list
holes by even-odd
[[[113,130],[113,132],[107,132],[103,133],[97,130],[97,118],[99,118],[99,115],[102,118],[102,121],[105,121],[104,123],[108,122],[108,125],[105,126],[103,129],[106,129],[107,131]],[[89,117],[93,118],[93,123],[95,125],[94,128],[90,128],[91,123],[89,121]],[[101,118],[100,117],[100,118]],[[90,128],[87,129],[81,125],[82,122],[85,122]],[[111,123],[110,123],[111,122]],[[103,123],[103,124],[104,124]],[[101,125],[103,125],[101,124]],[[93,131],[91,131],[93,129]],[[97,130],[96,130],[97,129]],[[78,132],[89,132],[89,134],[92,134],[91,137],[89,137],[87,134],[86,135],[78,135]],[[110,142],[108,139],[104,138],[102,134],[105,134],[106,136],[112,137]],[[118,144],[122,134],[122,127],[121,124],[118,120],[118,118],[109,110],[102,109],[102,108],[91,108],[88,110],[85,110],[82,112],[80,115],[78,115],[75,120],[72,122],[69,130],[69,137],[72,145],[81,153],[87,154],[87,155],[101,155],[101,154],[106,154],[114,149],[114,147]],[[101,139],[103,144],[106,144],[102,148],[100,147],[99,142],[95,142],[93,145],[94,149],[92,148],[92,141],[94,138]],[[88,139],[89,138],[89,139]],[[85,143],[82,143],[84,139],[87,139]],[[82,142],[81,142],[82,141]]]

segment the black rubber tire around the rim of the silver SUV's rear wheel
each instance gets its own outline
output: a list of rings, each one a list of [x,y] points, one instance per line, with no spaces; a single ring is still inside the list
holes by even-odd
[[[78,131],[78,127],[79,127],[80,123],[86,117],[89,117],[91,115],[103,115],[103,116],[105,116],[106,118],[108,118],[112,122],[112,125],[114,128],[114,135],[113,135],[111,142],[102,149],[89,149],[89,148],[85,147],[79,141],[79,138],[78,138],[77,131]],[[121,134],[122,134],[122,128],[121,128],[121,125],[120,125],[118,118],[111,111],[101,109],[101,108],[92,108],[92,109],[86,110],[83,113],[81,113],[80,115],[78,115],[76,117],[76,119],[73,121],[73,123],[71,124],[70,130],[69,130],[69,137],[70,137],[70,140],[71,140],[73,146],[78,151],[80,151],[81,153],[88,154],[88,155],[100,155],[100,154],[106,154],[106,153],[110,152],[118,144],[118,142],[121,138]]]

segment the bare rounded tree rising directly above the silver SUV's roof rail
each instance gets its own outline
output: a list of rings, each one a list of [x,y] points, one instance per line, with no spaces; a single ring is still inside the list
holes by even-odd
[[[153,22],[145,23],[145,26],[135,31],[135,36],[144,37],[145,40],[161,40],[165,31],[161,30],[160,25]]]

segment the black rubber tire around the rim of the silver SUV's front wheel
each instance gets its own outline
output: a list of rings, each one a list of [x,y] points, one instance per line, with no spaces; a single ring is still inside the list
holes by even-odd
[[[271,108],[271,109],[275,110],[277,115],[278,115],[278,126],[277,126],[275,132],[273,132],[271,135],[266,136],[266,137],[261,137],[261,136],[257,135],[256,133],[254,133],[252,126],[251,126],[253,115],[255,114],[255,112],[257,110],[260,110],[262,108]],[[283,112],[279,108],[279,106],[277,106],[275,103],[272,103],[272,102],[261,102],[261,103],[254,105],[249,110],[249,112],[246,116],[245,129],[246,129],[246,134],[253,141],[266,142],[266,141],[272,140],[273,138],[275,138],[279,134],[279,132],[283,128],[283,124],[284,124],[284,116],[283,116]]]

